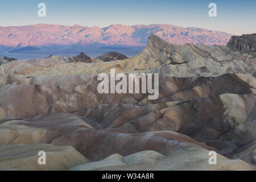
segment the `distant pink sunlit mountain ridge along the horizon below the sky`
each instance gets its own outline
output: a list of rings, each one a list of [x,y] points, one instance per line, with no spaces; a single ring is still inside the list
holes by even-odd
[[[125,26],[114,24],[109,27],[62,26],[35,24],[30,26],[0,26],[0,46],[35,47],[49,45],[106,44],[119,46],[146,46],[148,37],[155,34],[172,44],[226,45],[232,34],[204,28],[177,27],[169,24]]]

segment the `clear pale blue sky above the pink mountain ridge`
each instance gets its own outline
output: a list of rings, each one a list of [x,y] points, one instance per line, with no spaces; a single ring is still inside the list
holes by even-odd
[[[46,17],[38,4],[46,4]],[[208,15],[216,3],[217,16]],[[47,23],[108,27],[111,24],[172,24],[235,35],[256,33],[256,0],[8,0],[0,2],[0,26]]]

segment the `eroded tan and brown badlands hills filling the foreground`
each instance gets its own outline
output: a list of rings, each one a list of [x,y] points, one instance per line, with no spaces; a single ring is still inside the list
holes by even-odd
[[[152,34],[123,60],[81,53],[2,64],[0,169],[255,170],[255,40],[208,47]],[[159,98],[98,93],[97,75],[111,68],[159,73]]]

